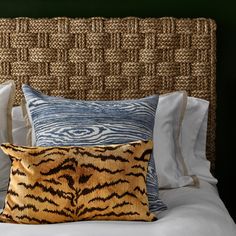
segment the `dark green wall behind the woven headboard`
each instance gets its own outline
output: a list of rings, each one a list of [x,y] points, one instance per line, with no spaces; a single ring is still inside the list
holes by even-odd
[[[0,17],[206,17],[217,31],[217,163],[219,192],[236,220],[236,7],[235,0],[0,0]],[[235,2],[236,3],[236,2]]]

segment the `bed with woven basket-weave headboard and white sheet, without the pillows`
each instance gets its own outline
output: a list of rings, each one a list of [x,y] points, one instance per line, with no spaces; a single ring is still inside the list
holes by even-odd
[[[0,82],[81,100],[136,99],[186,91],[209,101],[206,157],[215,167],[216,24],[211,19],[0,19]],[[216,182],[215,182],[216,183]],[[235,235],[214,182],[161,188],[168,209],[153,223],[0,223],[5,235]],[[3,206],[6,192],[0,195]]]

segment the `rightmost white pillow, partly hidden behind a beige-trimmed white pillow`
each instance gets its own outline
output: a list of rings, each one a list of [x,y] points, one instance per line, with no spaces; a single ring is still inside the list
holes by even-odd
[[[182,122],[180,145],[182,155],[190,175],[216,184],[210,172],[210,162],[206,159],[206,137],[209,102],[188,97]]]

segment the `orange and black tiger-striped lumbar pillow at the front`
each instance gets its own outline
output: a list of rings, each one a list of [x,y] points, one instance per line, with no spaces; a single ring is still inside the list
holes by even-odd
[[[12,160],[2,222],[156,220],[146,190],[152,141],[1,148]]]

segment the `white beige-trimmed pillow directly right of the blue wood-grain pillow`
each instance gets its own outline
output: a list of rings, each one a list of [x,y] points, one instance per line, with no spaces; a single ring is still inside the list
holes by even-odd
[[[186,92],[173,92],[159,97],[153,141],[159,188],[196,185],[189,176],[179,146],[180,127],[187,104]]]

